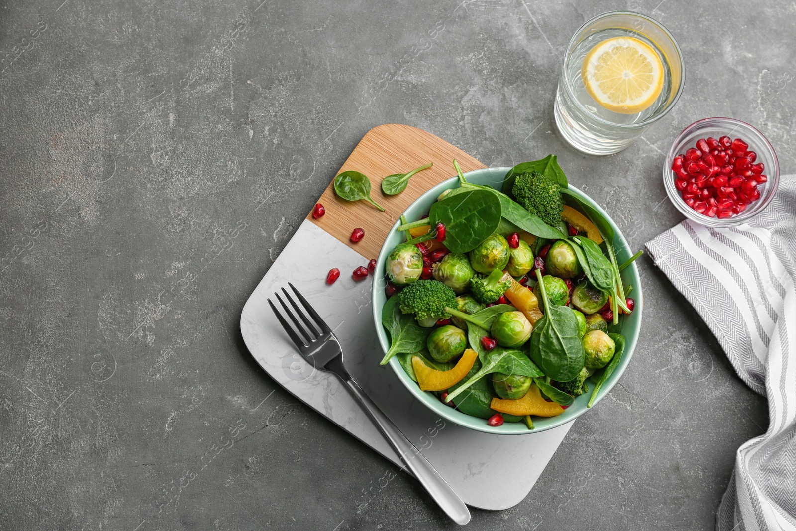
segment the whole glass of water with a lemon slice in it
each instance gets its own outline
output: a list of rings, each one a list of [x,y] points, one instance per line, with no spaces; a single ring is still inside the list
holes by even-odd
[[[567,46],[556,127],[584,153],[617,153],[672,109],[684,80],[680,47],[659,22],[628,11],[601,14]]]

